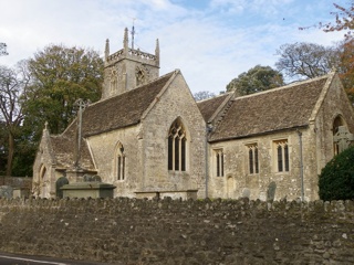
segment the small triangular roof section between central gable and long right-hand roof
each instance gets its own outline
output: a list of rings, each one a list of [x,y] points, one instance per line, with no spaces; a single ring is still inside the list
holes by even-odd
[[[230,95],[230,93],[226,93],[216,97],[197,102],[197,106],[206,123],[210,121],[214,115],[218,110],[220,110],[219,108],[222,107],[222,105],[229,100]]]

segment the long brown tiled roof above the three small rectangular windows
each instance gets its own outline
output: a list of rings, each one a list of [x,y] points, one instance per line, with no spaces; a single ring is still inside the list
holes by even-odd
[[[333,74],[233,99],[209,141],[308,126]]]

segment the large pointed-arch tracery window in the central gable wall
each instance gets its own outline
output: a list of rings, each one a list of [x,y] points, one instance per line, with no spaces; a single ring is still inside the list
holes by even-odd
[[[176,119],[168,132],[168,170],[186,171],[186,130]]]

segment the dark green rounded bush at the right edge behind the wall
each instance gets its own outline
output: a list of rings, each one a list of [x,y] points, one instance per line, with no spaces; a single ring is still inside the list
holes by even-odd
[[[321,200],[354,199],[354,146],[335,156],[319,176]]]

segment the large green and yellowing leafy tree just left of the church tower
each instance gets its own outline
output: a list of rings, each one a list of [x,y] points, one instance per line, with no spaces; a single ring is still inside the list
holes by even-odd
[[[96,102],[101,97],[103,61],[93,50],[50,45],[34,54],[29,70],[33,85],[24,126],[33,128],[34,140],[45,121],[51,132],[62,132],[76,115],[76,99]]]

